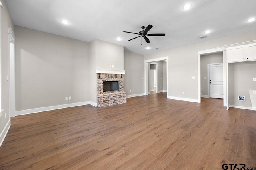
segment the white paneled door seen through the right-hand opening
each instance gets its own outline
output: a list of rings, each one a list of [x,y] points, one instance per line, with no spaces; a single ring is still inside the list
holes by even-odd
[[[223,99],[223,64],[209,65],[210,98]]]

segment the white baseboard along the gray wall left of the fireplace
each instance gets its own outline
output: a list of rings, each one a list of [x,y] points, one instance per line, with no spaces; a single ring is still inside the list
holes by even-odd
[[[26,114],[31,114],[31,113],[38,113],[42,111],[50,111],[50,110],[56,110],[56,109],[64,109],[68,107],[75,107],[75,106],[82,106],[82,105],[88,105],[91,104],[94,106],[94,102],[87,101],[87,102],[78,102],[78,103],[70,103],[70,104],[62,104],[62,105],[57,105],[57,106],[48,106],[48,107],[40,107],[40,108],[35,108],[35,109],[28,109],[28,110],[20,110],[16,111],[15,115],[26,115]],[[97,105],[97,104],[96,104]]]

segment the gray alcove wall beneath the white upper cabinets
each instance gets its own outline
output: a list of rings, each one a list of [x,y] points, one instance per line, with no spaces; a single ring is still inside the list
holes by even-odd
[[[229,104],[252,107],[249,89],[256,89],[256,61],[228,64]],[[245,101],[238,101],[238,95],[245,96]]]

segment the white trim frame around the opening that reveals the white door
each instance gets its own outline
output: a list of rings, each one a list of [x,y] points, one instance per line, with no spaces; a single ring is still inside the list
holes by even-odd
[[[223,54],[223,106],[227,106],[228,98],[226,81],[226,47],[218,47],[214,49],[197,51],[198,103],[201,103],[201,55],[208,55],[221,52]]]

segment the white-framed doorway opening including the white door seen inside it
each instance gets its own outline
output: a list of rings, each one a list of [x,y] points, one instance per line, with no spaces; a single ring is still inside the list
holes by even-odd
[[[223,99],[226,106],[226,48],[198,51],[198,102],[203,98]]]

